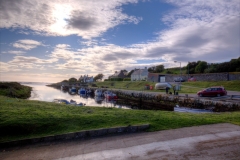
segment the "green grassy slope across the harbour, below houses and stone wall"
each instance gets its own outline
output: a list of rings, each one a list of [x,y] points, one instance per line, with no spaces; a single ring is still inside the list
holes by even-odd
[[[144,90],[146,84],[155,86],[155,82],[146,81],[117,81],[117,82],[95,82],[98,87],[108,87],[113,89],[126,89],[126,90]],[[226,90],[240,91],[240,80],[238,81],[209,81],[209,82],[182,82],[180,93],[197,93],[199,90],[211,86],[224,86]],[[165,92],[165,90],[148,90],[152,92]]]

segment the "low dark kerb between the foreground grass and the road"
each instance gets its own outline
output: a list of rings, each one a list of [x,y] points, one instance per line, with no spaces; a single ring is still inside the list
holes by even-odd
[[[17,140],[17,141],[2,142],[0,143],[0,148],[29,145],[29,144],[35,144],[35,143],[41,143],[41,142],[52,142],[52,141],[59,141],[59,140],[84,139],[84,138],[99,137],[99,136],[106,136],[106,135],[115,135],[115,134],[121,134],[121,133],[134,133],[134,132],[144,131],[147,128],[149,128],[149,124],[86,130],[86,131],[66,133],[61,135],[51,135],[51,136],[40,137],[40,138],[30,138],[30,139],[23,139],[23,140]]]

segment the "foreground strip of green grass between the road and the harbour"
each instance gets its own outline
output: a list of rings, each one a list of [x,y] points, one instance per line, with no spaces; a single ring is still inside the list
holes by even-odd
[[[74,107],[0,96],[0,142],[87,129],[150,124],[148,131],[228,122],[240,112],[193,114],[101,107]]]

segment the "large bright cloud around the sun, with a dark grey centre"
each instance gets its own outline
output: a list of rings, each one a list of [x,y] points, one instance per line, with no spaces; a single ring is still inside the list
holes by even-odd
[[[0,28],[22,28],[36,34],[84,39],[98,37],[119,24],[137,24],[141,18],[122,13],[123,4],[137,0],[11,0],[0,2]]]

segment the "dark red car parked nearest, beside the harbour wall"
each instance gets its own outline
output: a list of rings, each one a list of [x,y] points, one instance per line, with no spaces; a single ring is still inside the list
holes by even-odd
[[[202,91],[199,91],[199,92],[197,92],[197,95],[199,97],[203,97],[203,96],[220,97],[220,96],[227,95],[227,91],[222,86],[216,86],[216,87],[210,87],[210,88],[204,89]]]

